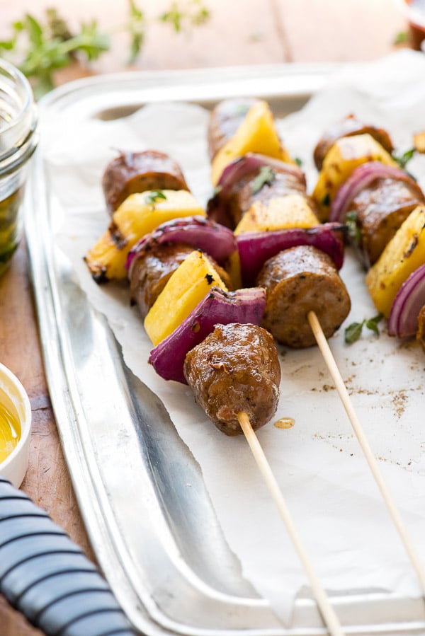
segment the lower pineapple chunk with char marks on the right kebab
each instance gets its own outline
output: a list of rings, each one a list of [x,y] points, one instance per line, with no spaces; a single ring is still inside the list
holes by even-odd
[[[409,214],[366,276],[375,307],[390,316],[397,291],[414,270],[425,263],[425,206]]]

